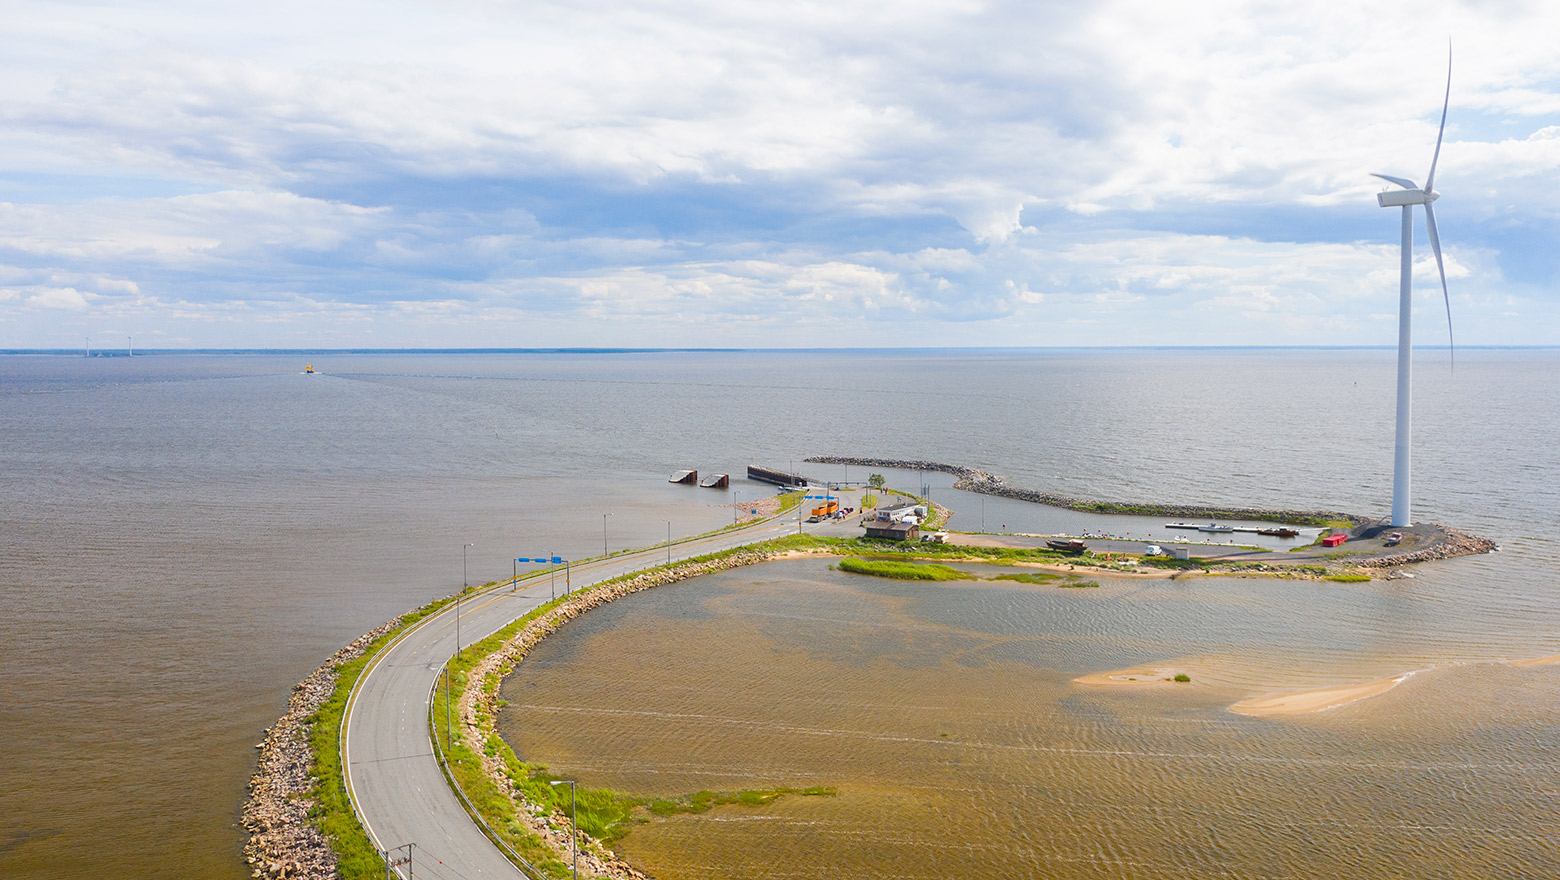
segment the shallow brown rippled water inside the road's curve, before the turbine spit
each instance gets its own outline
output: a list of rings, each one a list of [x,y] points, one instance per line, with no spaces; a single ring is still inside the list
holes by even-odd
[[[1560,668],[1476,663],[1533,633],[1490,632],[1509,612],[1488,596],[1435,591],[772,563],[565,627],[505,683],[501,729],[582,785],[839,790],[635,829],[621,850],[660,880],[1560,875]],[[1421,637],[1374,632],[1437,605]],[[1156,658],[1193,682],[1070,682]],[[1298,721],[1225,708],[1421,666]]]

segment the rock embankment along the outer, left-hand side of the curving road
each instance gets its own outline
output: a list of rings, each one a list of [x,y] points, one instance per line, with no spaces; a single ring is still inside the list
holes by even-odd
[[[335,849],[309,821],[314,777],[314,750],[309,733],[314,713],[335,693],[335,671],[342,663],[363,655],[374,640],[401,626],[396,618],[337,651],[307,679],[293,687],[287,715],[265,730],[259,769],[250,777],[242,824],[250,832],[243,855],[254,877],[324,880],[337,875]]]

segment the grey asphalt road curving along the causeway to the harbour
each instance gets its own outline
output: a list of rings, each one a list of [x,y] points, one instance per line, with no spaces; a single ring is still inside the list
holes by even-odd
[[[844,534],[855,518],[808,530]],[[672,545],[672,560],[794,534],[794,513],[741,530]],[[666,548],[577,565],[576,590],[666,562]],[[558,584],[558,590],[563,584]],[[548,602],[546,577],[523,579],[460,602],[460,643],[470,646]],[[412,869],[429,880],[526,877],[471,821],[445,782],[427,732],[434,680],[456,652],[456,610],[412,627],[381,651],[357,682],[342,736],[346,786],[368,838],[381,850],[415,844]],[[404,872],[402,872],[404,877]]]

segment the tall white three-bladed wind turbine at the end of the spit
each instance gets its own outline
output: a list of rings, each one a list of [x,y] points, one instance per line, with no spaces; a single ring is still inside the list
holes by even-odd
[[[1446,264],[1441,262],[1441,239],[1435,234],[1435,209],[1431,204],[1441,197],[1435,192],[1435,162],[1441,158],[1441,137],[1446,134],[1446,109],[1452,100],[1452,47],[1446,45],[1446,98],[1441,101],[1441,130],[1435,134],[1435,154],[1431,156],[1431,173],[1420,184],[1388,175],[1371,175],[1402,189],[1376,193],[1382,208],[1402,208],[1402,279],[1398,286],[1398,443],[1392,460],[1392,524],[1409,526],[1409,434],[1412,428],[1412,356],[1413,356],[1413,206],[1424,206],[1424,229],[1431,234],[1431,250],[1435,251],[1435,268],[1441,273],[1441,298],[1446,301],[1446,340],[1452,342],[1452,300],[1446,292]],[[1455,354],[1454,354],[1455,357]]]

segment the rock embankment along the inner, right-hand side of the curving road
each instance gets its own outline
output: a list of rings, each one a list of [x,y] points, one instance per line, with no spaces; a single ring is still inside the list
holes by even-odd
[[[526,830],[544,841],[560,861],[568,863],[571,857],[569,818],[560,811],[538,816],[538,808],[524,797],[524,793],[515,786],[505,771],[504,754],[509,752],[509,744],[495,730],[499,682],[543,638],[597,605],[621,599],[630,593],[638,593],[640,590],[714,574],[716,571],[729,571],[744,565],[755,565],[775,555],[774,551],[738,551],[721,559],[685,562],[671,568],[644,571],[626,580],[582,591],[574,599],[526,624],[519,632],[507,638],[498,651],[484,657],[466,676],[466,687],[456,704],[460,713],[460,735],[466,743],[480,743],[485,746],[477,749],[482,758],[482,772],[515,804],[515,814],[526,824]],[[618,858],[604,843],[583,832],[580,832],[579,838],[580,877],[647,880],[644,872]]]

